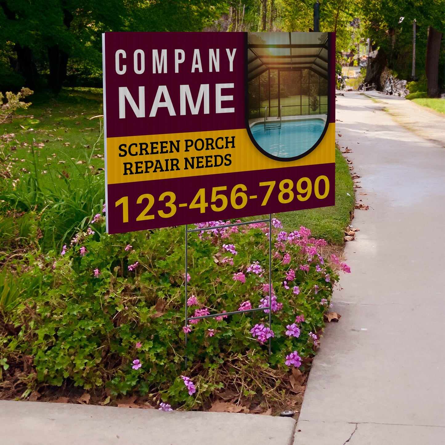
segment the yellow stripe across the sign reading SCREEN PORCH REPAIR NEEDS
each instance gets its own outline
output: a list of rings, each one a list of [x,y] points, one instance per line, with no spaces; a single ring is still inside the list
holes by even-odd
[[[315,150],[291,162],[267,158],[253,145],[246,129],[107,138],[107,181],[120,184],[326,164],[335,162],[334,144],[333,123]]]

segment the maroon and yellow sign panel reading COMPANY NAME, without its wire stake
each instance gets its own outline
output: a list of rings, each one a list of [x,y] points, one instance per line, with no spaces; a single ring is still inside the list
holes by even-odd
[[[335,35],[102,36],[108,233],[334,205]]]

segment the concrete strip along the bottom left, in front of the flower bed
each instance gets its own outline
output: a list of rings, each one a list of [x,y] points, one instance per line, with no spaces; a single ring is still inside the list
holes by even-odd
[[[291,445],[295,421],[201,413],[0,401],[2,445]]]

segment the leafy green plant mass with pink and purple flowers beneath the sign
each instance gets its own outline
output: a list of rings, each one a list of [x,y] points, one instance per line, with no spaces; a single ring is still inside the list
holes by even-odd
[[[107,235],[102,220],[97,215],[71,245],[47,258],[50,279],[34,301],[39,329],[32,352],[40,381],[71,379],[115,395],[151,392],[190,408],[237,378],[246,383],[245,396],[265,393],[280,383],[271,375],[313,355],[338,275],[320,253],[326,243],[308,229],[288,234],[275,220],[269,359],[267,309],[190,320],[185,346],[183,227]],[[188,316],[267,307],[268,227],[199,227],[189,236]]]

